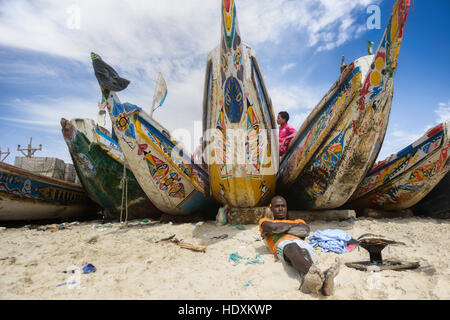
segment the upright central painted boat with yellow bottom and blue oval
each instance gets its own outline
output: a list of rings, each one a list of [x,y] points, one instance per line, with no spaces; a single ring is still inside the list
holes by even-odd
[[[203,150],[211,193],[231,207],[265,205],[275,192],[278,132],[255,51],[241,41],[233,0],[221,6],[220,45],[207,58]]]

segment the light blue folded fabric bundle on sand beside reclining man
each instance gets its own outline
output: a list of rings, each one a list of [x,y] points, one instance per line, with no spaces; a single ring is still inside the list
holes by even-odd
[[[308,237],[313,248],[321,247],[322,252],[346,253],[347,242],[352,237],[345,231],[339,229],[317,230]]]

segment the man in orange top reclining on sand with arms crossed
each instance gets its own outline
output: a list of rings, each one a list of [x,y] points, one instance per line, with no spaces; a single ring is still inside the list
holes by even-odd
[[[270,208],[274,219],[259,220],[259,231],[270,251],[300,273],[301,292],[317,294],[322,289],[323,295],[332,295],[340,261],[336,260],[328,270],[322,272],[317,266],[314,248],[304,241],[310,231],[305,221],[287,219],[287,203],[281,196],[272,198]]]

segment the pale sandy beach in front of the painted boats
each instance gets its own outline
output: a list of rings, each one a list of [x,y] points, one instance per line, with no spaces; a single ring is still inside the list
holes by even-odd
[[[341,229],[354,238],[370,232],[404,242],[385,248],[383,259],[418,261],[420,267],[363,272],[342,265],[333,296],[308,295],[298,290],[296,271],[269,252],[256,225],[241,230],[214,221],[134,220],[124,226],[95,220],[63,230],[40,226],[0,231],[0,299],[450,299],[449,220],[364,217],[309,225],[311,234]],[[158,242],[171,235],[206,246],[206,252]],[[233,253],[242,259],[231,261]],[[369,260],[363,248],[317,253],[322,270],[337,256],[344,263]],[[96,272],[83,274],[89,263]]]

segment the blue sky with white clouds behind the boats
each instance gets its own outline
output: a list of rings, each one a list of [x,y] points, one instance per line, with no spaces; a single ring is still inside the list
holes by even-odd
[[[381,28],[369,30],[372,5]],[[349,63],[374,49],[394,0],[236,0],[244,42],[256,50],[275,112],[299,127]],[[406,22],[388,130],[379,159],[450,119],[450,1],[416,0]],[[100,91],[90,52],[131,81],[119,93],[149,110],[159,71],[168,96],[154,117],[175,136],[201,130],[206,57],[219,43],[219,0],[0,1],[0,148],[17,145],[70,162],[59,120],[97,119]],[[110,126],[109,126],[110,128]]]

